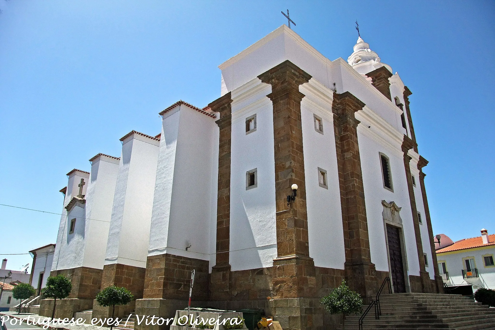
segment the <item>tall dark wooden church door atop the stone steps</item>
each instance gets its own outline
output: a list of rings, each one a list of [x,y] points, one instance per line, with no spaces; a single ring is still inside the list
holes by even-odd
[[[404,264],[402,262],[402,247],[399,229],[387,225],[387,240],[389,243],[390,272],[395,293],[405,292]]]

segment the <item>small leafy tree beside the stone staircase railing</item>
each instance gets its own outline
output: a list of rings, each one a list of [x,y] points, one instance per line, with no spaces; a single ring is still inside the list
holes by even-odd
[[[342,330],[346,326],[346,315],[361,313],[363,308],[363,299],[359,293],[349,290],[346,281],[342,281],[341,285],[333,289],[328,296],[321,298],[320,302],[330,314],[343,314]]]

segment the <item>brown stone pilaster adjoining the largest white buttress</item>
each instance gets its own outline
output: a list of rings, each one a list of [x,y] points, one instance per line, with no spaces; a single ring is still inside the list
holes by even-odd
[[[216,121],[220,128],[218,148],[218,199],[216,264],[211,270],[211,300],[229,300],[230,297],[230,159],[232,141],[232,98],[231,93],[208,104],[214,112],[220,113]]]

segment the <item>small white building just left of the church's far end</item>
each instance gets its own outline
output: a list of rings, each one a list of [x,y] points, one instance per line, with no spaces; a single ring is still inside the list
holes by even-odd
[[[29,252],[33,254],[29,284],[36,289],[36,295],[40,295],[41,289],[45,287],[50,276],[55,244],[48,244]]]

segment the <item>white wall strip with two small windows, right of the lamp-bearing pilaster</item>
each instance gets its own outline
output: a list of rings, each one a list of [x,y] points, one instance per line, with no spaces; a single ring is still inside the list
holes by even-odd
[[[333,94],[315,79],[300,86],[302,142],[308,215],[309,255],[317,267],[344,269],[346,255],[332,112]],[[323,134],[313,114],[323,119]],[[328,189],[319,186],[318,168],[327,171]],[[329,253],[331,246],[331,253]]]

